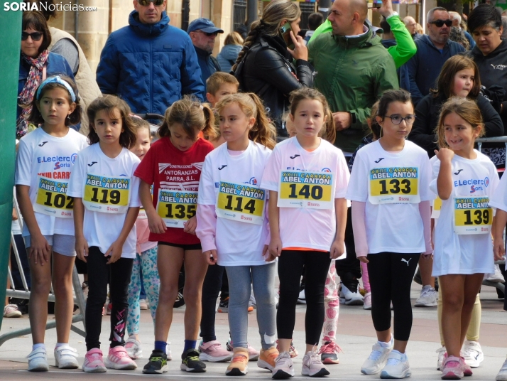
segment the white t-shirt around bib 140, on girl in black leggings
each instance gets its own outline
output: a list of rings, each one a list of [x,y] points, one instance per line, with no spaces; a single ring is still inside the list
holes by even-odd
[[[332,206],[329,209],[279,208],[282,247],[300,247],[329,251],[336,236],[335,198],[345,198],[349,169],[340,149],[320,140],[315,151],[306,151],[296,137],[275,146],[266,164],[261,188],[279,193],[283,171],[311,171],[332,174]],[[345,254],[344,254],[345,255]]]

